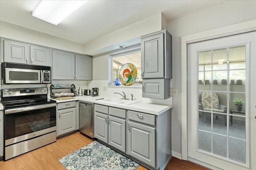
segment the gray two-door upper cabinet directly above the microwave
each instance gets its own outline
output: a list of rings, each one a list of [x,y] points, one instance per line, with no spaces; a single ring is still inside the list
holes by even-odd
[[[50,66],[50,48],[10,40],[3,42],[4,62]]]

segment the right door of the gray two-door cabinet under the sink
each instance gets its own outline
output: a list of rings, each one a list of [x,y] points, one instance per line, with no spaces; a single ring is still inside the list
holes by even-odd
[[[126,120],[108,116],[108,145],[126,151]]]

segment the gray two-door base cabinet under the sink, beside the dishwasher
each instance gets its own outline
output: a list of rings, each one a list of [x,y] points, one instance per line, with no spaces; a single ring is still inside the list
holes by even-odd
[[[126,152],[126,110],[94,106],[94,137]]]

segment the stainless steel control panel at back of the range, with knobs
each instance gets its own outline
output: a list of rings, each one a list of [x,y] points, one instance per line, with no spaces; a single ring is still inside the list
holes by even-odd
[[[2,89],[2,97],[48,94],[47,88],[14,88]]]

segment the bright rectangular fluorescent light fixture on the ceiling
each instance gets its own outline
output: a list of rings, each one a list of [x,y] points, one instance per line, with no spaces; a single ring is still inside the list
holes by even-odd
[[[32,16],[58,25],[88,0],[42,0]]]

